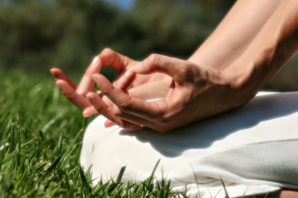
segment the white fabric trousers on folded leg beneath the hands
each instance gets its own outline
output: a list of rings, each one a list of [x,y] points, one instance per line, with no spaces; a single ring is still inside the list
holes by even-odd
[[[152,129],[104,128],[97,117],[86,129],[81,164],[92,178],[148,178],[158,159],[158,181],[171,179],[173,192],[202,198],[298,189],[298,92],[259,93],[238,110],[167,133]],[[198,186],[195,182],[196,176]],[[96,182],[96,180],[95,180]]]

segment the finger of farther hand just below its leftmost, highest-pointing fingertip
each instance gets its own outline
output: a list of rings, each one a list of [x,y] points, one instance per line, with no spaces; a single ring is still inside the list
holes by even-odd
[[[87,107],[92,106],[85,96],[77,94],[75,90],[65,80],[57,80],[56,85],[60,88],[64,96],[74,103],[81,110],[85,110]]]

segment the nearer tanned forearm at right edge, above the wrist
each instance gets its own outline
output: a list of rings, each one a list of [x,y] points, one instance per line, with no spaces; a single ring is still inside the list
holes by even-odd
[[[283,1],[257,37],[224,74],[252,98],[297,53],[298,1]]]

